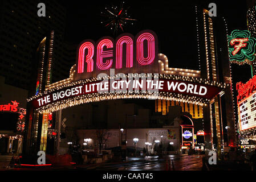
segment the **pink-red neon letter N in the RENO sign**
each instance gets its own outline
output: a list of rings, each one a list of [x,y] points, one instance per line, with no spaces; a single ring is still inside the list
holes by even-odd
[[[126,67],[133,67],[133,40],[129,36],[122,36],[116,42],[116,69],[122,68],[123,46],[126,46]]]

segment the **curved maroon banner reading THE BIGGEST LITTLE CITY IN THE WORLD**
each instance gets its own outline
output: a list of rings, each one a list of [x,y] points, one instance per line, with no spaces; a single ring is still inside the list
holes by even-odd
[[[103,100],[102,97],[122,94],[123,96],[131,96],[136,94],[154,94],[153,96],[162,97],[163,94],[184,94],[185,96],[198,97],[198,104],[208,102],[218,93],[222,88],[213,85],[201,84],[198,82],[172,80],[172,79],[138,79],[138,80],[112,80],[107,79],[103,81],[84,82],[69,86],[67,88],[48,92],[42,96],[36,96],[31,101],[35,109],[46,109],[55,103],[64,102],[71,98],[77,97],[92,97]],[[152,96],[152,97],[153,97]],[[139,98],[139,97],[138,97]],[[182,98],[180,96],[180,98]]]

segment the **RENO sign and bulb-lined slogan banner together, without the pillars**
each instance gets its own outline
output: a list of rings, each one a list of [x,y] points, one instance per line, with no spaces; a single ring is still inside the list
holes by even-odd
[[[96,43],[87,39],[78,47],[70,77],[47,85],[43,93],[27,101],[34,109],[48,113],[87,102],[123,98],[204,105],[226,86],[198,78],[200,73],[195,71],[190,71],[189,77],[187,69],[170,69],[166,56],[158,53],[157,36],[151,30],[134,37],[121,34],[115,40],[104,37]],[[197,77],[192,77],[195,73]]]

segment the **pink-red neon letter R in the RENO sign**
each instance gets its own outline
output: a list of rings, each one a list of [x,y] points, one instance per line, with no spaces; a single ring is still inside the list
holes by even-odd
[[[94,56],[94,44],[91,42],[85,42],[79,48],[79,55],[78,55],[78,73],[84,72],[84,53],[88,50],[86,55],[86,63],[87,63],[87,72],[94,71],[94,60],[92,57]]]

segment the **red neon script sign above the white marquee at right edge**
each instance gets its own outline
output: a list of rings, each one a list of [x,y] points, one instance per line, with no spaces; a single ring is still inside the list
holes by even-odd
[[[251,78],[249,81],[246,82],[246,84],[243,84],[242,82],[237,83],[237,102],[240,102],[243,98],[246,98],[250,96],[251,93],[253,93],[256,90],[256,75]]]

